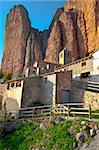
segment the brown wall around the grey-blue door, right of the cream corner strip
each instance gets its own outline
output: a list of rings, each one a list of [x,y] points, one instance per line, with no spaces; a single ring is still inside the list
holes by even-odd
[[[63,90],[71,91],[71,72],[59,72],[57,75],[57,98],[56,103],[63,103]]]

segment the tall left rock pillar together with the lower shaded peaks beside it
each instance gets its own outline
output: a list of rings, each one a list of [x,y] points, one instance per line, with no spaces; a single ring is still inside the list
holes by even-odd
[[[16,77],[35,60],[43,60],[48,36],[48,31],[39,32],[31,27],[23,6],[14,7],[6,18],[2,70]]]

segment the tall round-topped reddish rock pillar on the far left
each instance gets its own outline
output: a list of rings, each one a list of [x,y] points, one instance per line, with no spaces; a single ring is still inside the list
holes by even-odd
[[[30,21],[24,7],[14,7],[6,18],[2,70],[12,74],[23,71]]]

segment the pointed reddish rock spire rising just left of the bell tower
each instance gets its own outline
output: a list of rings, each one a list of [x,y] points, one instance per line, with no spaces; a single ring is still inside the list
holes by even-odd
[[[58,54],[62,49],[61,40],[61,27],[60,22],[57,20],[54,22],[53,28],[50,32],[50,37],[48,39],[46,61],[58,63]]]

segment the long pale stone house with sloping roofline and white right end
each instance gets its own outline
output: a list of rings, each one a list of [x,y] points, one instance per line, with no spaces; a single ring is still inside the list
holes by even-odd
[[[60,54],[62,54],[60,52]],[[59,54],[59,56],[60,56]],[[63,55],[63,57],[65,57]],[[64,58],[62,58],[64,60]],[[59,57],[61,61],[61,58]],[[59,61],[59,62],[60,62]],[[64,66],[56,67],[54,71],[72,71],[72,77],[76,80],[86,80],[99,82],[99,50],[89,54],[89,56],[65,64]]]

